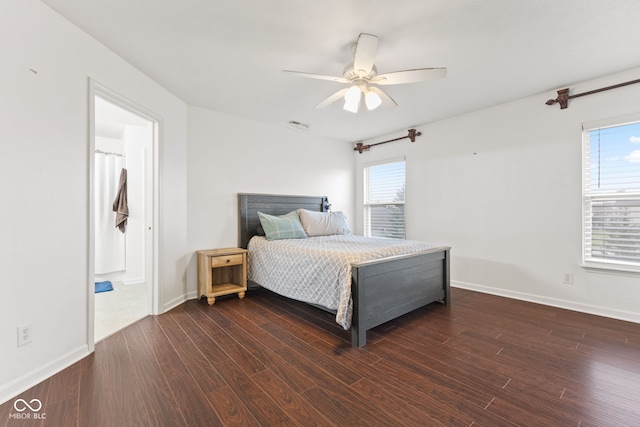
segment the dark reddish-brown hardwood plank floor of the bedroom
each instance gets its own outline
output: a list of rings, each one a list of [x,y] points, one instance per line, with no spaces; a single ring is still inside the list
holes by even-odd
[[[11,399],[0,426],[640,426],[640,325],[452,297],[358,349],[331,314],[267,291],[189,301],[16,397],[44,420]]]

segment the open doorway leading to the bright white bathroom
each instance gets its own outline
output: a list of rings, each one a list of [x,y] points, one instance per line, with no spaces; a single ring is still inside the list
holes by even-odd
[[[89,343],[95,343],[156,312],[158,121],[91,87]]]

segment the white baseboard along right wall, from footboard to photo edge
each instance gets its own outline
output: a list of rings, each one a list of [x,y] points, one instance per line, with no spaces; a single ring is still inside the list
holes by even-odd
[[[476,283],[459,282],[452,280],[451,286],[453,286],[454,288],[468,289],[470,291],[477,291],[485,294],[533,302],[536,304],[543,304],[551,307],[564,308],[566,310],[579,311],[581,313],[594,314],[596,316],[610,317],[612,319],[624,320],[626,322],[640,323],[640,314],[629,311],[613,310],[607,307],[582,304],[575,301],[563,300],[559,298],[549,298],[542,295],[529,294],[526,292],[493,288],[491,286],[478,285]],[[455,300],[453,301],[453,303],[455,304]]]

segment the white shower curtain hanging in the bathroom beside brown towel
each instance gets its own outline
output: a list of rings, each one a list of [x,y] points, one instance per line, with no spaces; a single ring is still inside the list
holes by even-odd
[[[113,200],[118,191],[124,157],[95,153],[95,272],[124,271],[125,234],[116,227]]]

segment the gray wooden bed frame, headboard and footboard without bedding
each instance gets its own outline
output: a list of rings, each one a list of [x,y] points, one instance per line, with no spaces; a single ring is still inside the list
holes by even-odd
[[[247,248],[257,233],[258,211],[284,215],[296,209],[325,212],[325,196],[283,196],[238,194],[239,244]],[[359,262],[351,266],[353,318],[351,345],[366,344],[368,329],[381,325],[419,307],[439,301],[451,303],[449,292],[449,251],[441,246],[408,255]],[[251,252],[249,252],[249,256]],[[259,284],[258,284],[259,285]]]

